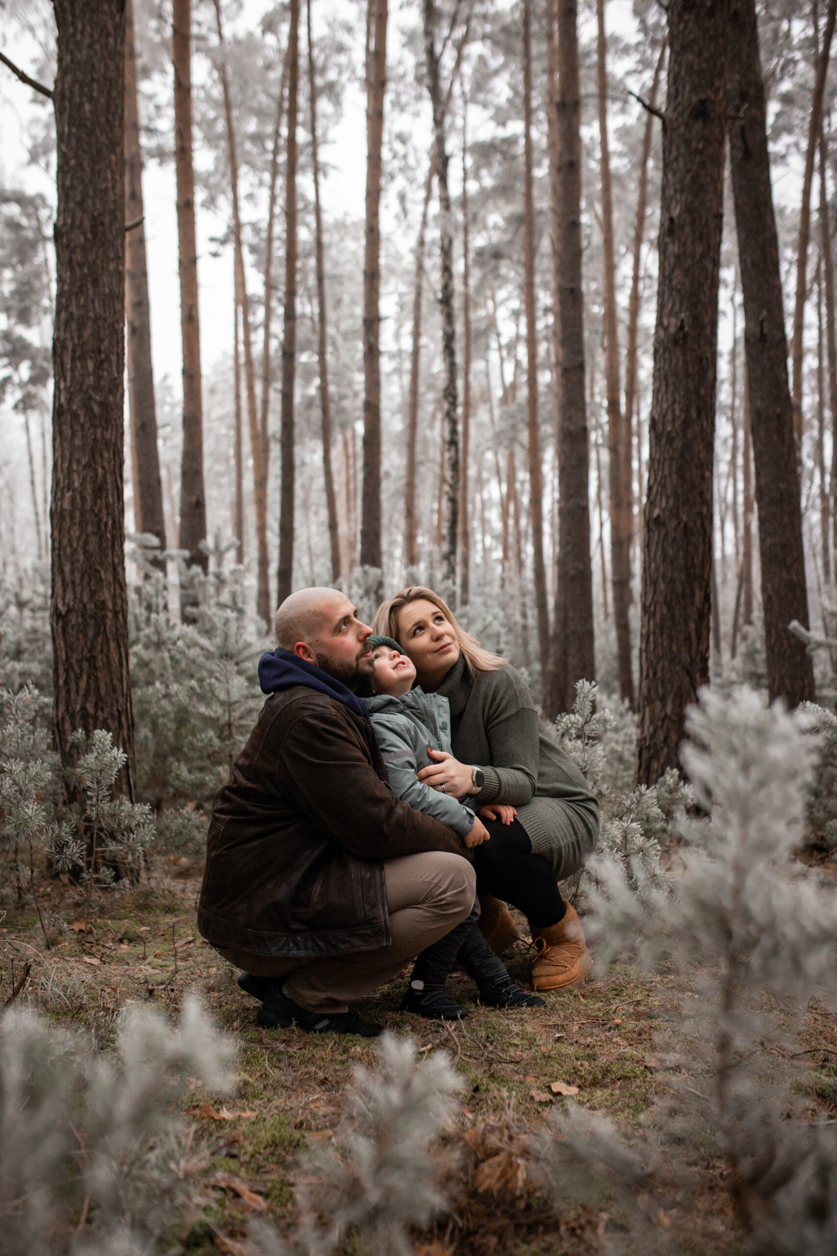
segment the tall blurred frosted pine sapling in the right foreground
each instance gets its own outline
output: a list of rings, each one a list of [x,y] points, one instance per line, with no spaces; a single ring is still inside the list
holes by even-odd
[[[601,958],[648,948],[689,968],[701,1102],[689,1133],[664,1123],[661,1137],[724,1157],[753,1251],[824,1256],[834,1250],[837,1139],[831,1127],[787,1119],[793,1104],[763,1054],[770,1026],[759,1011],[765,987],[802,1007],[837,987],[833,888],[793,859],[817,755],[811,715],[768,708],[748,688],[704,690],[686,728],[683,764],[710,821],[679,821],[683,872],[669,893],[645,879],[637,897],[625,863],[600,859],[589,936]]]

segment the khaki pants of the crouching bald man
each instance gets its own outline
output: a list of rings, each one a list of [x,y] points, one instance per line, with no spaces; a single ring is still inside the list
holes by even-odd
[[[387,985],[404,965],[471,913],[477,879],[467,859],[443,850],[384,862],[392,946],[319,960],[282,960],[218,948],[255,977],[284,977],[285,991],[310,1012],[345,1012]]]

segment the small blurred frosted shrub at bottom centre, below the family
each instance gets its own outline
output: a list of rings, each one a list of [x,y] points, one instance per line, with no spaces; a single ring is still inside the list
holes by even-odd
[[[295,1250],[328,1256],[351,1230],[369,1256],[408,1256],[410,1226],[427,1226],[445,1203],[445,1162],[433,1142],[462,1080],[447,1056],[415,1064],[415,1044],[384,1035],[379,1066],[358,1069],[338,1148],[309,1158],[296,1182]]]

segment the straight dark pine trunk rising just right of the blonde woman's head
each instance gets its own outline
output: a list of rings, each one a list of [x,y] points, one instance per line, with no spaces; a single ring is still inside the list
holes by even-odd
[[[575,701],[580,679],[595,679],[590,561],[590,455],[585,404],[581,278],[581,88],[576,0],[557,0],[558,85],[558,573],[546,701],[552,718]]]

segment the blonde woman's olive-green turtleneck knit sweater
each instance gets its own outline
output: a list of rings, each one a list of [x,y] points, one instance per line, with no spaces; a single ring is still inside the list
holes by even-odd
[[[509,803],[532,850],[550,860],[558,880],[577,872],[596,845],[599,804],[538,718],[523,678],[508,664],[472,678],[459,657],[435,692],[450,703],[454,756],[486,774],[482,793],[471,800],[474,810]]]

